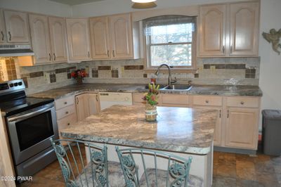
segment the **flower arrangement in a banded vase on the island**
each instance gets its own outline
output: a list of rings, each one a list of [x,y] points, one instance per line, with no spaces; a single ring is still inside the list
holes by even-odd
[[[157,117],[157,104],[158,104],[158,90],[159,85],[148,84],[148,93],[145,93],[143,100],[145,103],[145,120],[152,122]]]

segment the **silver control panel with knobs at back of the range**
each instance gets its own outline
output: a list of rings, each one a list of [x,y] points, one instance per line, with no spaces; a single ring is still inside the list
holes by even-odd
[[[1,93],[7,93],[10,91],[20,91],[24,89],[25,89],[25,83],[23,82],[22,79],[2,82],[0,84],[0,95]]]

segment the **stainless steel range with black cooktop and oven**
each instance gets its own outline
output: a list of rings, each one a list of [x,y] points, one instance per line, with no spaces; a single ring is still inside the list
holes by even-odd
[[[0,84],[0,108],[17,176],[32,176],[56,160],[49,141],[58,138],[53,99],[27,97],[18,79]]]

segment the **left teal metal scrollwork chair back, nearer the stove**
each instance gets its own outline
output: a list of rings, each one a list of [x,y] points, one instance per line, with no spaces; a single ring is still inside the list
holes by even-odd
[[[86,141],[70,139],[50,140],[66,186],[109,186],[106,146],[100,147]],[[86,163],[82,150],[85,146],[89,150],[89,163]]]

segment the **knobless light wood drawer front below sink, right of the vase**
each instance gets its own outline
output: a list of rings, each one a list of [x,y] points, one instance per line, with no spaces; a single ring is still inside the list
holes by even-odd
[[[178,94],[162,94],[162,104],[188,105],[189,96]]]

